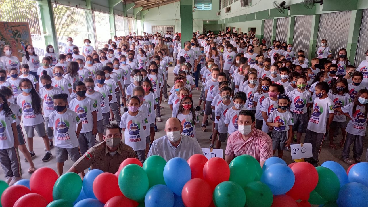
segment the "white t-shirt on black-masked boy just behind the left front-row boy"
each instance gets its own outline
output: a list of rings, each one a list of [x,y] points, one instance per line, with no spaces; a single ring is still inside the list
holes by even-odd
[[[82,122],[81,133],[90,132],[93,129],[92,112],[97,110],[97,103],[92,99],[86,97],[82,101],[77,98],[69,103],[69,109],[76,112]]]

